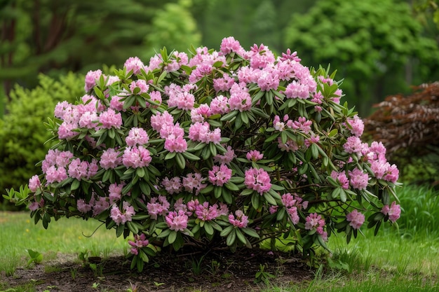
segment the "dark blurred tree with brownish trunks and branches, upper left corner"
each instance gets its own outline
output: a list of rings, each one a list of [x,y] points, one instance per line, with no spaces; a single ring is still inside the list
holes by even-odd
[[[121,66],[144,48],[151,20],[170,0],[4,0],[0,81],[32,88],[36,76]]]

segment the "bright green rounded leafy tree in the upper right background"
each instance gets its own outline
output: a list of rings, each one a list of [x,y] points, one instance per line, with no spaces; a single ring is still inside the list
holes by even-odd
[[[403,1],[325,0],[294,15],[285,45],[306,64],[337,68],[349,102],[366,115],[381,97],[438,78],[437,44],[422,31]]]

